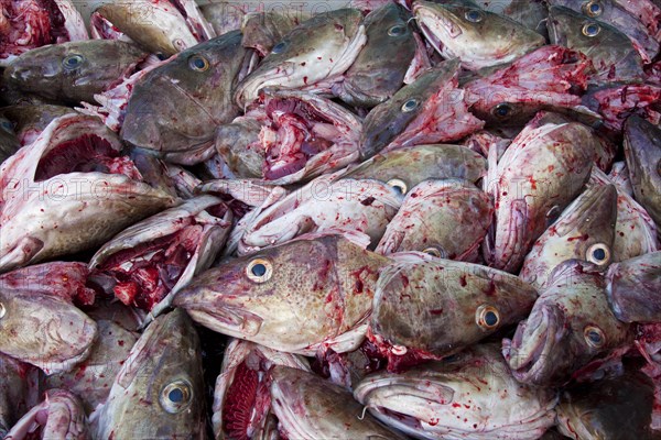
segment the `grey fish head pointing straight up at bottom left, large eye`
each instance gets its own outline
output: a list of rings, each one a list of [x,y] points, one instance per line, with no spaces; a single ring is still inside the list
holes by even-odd
[[[185,311],[149,324],[91,415],[96,439],[205,438],[199,338]]]

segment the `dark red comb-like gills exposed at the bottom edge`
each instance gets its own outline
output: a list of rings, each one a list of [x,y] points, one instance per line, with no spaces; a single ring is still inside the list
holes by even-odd
[[[264,363],[260,362],[260,371],[266,370]],[[227,388],[223,407],[223,427],[230,439],[249,440],[250,428],[259,424],[259,415],[266,415],[263,409],[271,405],[268,381],[260,381],[258,373],[243,361],[237,367],[234,381]],[[258,417],[251,416],[253,409]]]

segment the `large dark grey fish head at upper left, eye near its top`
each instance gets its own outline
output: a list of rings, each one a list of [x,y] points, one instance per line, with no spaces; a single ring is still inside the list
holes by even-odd
[[[234,31],[154,68],[133,87],[122,141],[183,165],[210,157],[216,127],[239,114],[234,87],[251,56]]]

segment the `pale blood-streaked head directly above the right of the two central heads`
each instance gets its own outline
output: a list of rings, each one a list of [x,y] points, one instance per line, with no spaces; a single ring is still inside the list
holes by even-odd
[[[407,195],[375,251],[422,251],[475,262],[492,216],[489,197],[472,183],[425,180]]]

